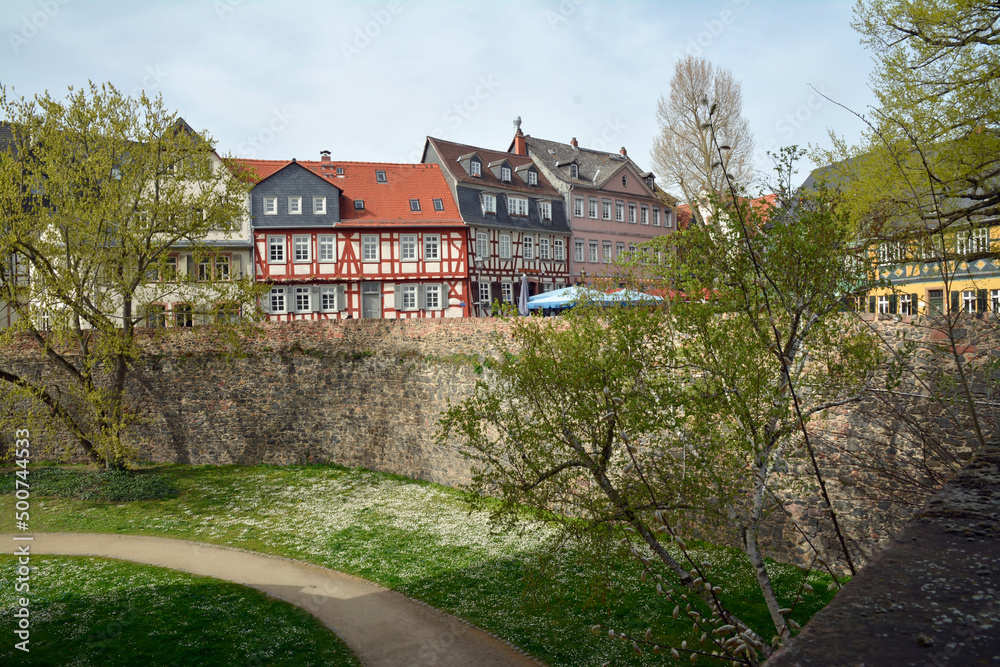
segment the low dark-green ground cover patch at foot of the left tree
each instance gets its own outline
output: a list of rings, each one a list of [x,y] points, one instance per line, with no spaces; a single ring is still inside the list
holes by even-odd
[[[0,493],[13,493],[15,472],[0,476]],[[177,493],[163,475],[133,470],[74,472],[63,468],[31,468],[32,495],[129,502],[161,500]]]

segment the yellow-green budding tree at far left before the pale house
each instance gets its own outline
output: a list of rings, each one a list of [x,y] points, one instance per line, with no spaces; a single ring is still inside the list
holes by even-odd
[[[228,321],[227,308],[254,303],[248,279],[198,281],[170,259],[183,244],[213,262],[204,239],[240,228],[250,186],[159,98],[91,84],[65,99],[3,90],[0,108],[0,303],[14,320],[0,346],[30,342],[53,369],[38,378],[0,359],[3,419],[58,423],[93,461],[120,467],[136,453],[126,386],[153,304]]]

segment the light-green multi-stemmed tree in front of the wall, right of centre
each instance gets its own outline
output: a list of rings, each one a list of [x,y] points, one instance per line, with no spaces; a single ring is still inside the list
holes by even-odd
[[[731,196],[716,202],[727,224],[650,242],[635,268],[673,286],[665,307],[512,321],[474,396],[441,420],[441,437],[475,463],[472,489],[499,494],[501,514],[527,506],[622,526],[658,592],[708,605],[692,618],[710,649],[750,661],[764,643],[726,611],[710,572],[665,545],[683,548],[692,516],[721,525],[754,567],[776,641],[786,637],[793,601],[778,599],[758,545],[781,507],[774,482],[795,455],[818,474],[805,423],[857,400],[878,361],[839,316],[868,280],[843,218],[823,197],[780,194],[780,207]],[[664,592],[673,577],[680,588]]]

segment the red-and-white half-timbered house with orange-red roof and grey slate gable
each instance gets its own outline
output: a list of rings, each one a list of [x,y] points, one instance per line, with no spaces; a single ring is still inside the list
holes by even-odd
[[[244,162],[269,320],[470,314],[466,226],[436,165]]]

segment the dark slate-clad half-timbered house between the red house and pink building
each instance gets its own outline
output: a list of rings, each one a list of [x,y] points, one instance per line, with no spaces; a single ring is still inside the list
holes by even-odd
[[[569,284],[563,198],[531,158],[428,137],[423,162],[438,165],[467,225],[474,315]]]

